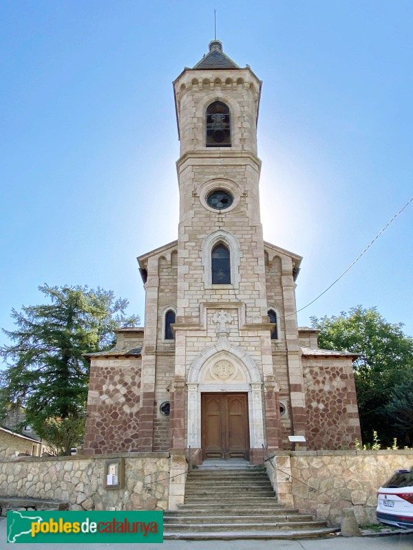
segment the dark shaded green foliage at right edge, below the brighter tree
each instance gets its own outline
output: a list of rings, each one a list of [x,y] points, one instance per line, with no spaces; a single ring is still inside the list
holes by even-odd
[[[396,433],[401,434],[403,445],[413,446],[413,369],[394,386],[385,411],[392,419]]]

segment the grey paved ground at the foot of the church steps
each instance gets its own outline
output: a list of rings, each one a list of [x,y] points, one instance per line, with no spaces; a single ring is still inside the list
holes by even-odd
[[[6,518],[0,518],[0,550],[36,550],[38,544],[7,544]],[[168,540],[163,544],[53,544],[50,550],[413,550],[413,533],[322,540]],[[43,550],[43,549],[41,549]],[[45,549],[47,550],[47,549]]]

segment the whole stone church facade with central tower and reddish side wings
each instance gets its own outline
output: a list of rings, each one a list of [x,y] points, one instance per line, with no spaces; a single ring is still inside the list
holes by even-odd
[[[301,257],[263,239],[257,119],[262,82],[212,41],[173,83],[178,240],[138,257],[145,328],[91,353],[87,453],[184,452],[262,461],[361,439],[354,354],[297,327]]]

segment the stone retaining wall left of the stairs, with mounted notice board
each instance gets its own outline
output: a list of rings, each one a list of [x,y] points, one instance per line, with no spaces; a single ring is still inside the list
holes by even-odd
[[[105,461],[117,458],[125,459],[125,486],[106,489]],[[72,510],[167,509],[170,460],[169,453],[122,453],[1,461],[0,496],[64,500]]]

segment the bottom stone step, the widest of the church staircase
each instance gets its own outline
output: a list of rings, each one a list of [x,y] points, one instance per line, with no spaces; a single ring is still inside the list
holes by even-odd
[[[339,531],[338,527],[326,527],[324,529],[290,529],[288,531],[216,531],[215,533],[191,532],[182,533],[179,529],[175,532],[164,531],[165,540],[180,538],[182,540],[268,540],[268,539],[296,539],[296,538],[321,538],[330,533]]]

